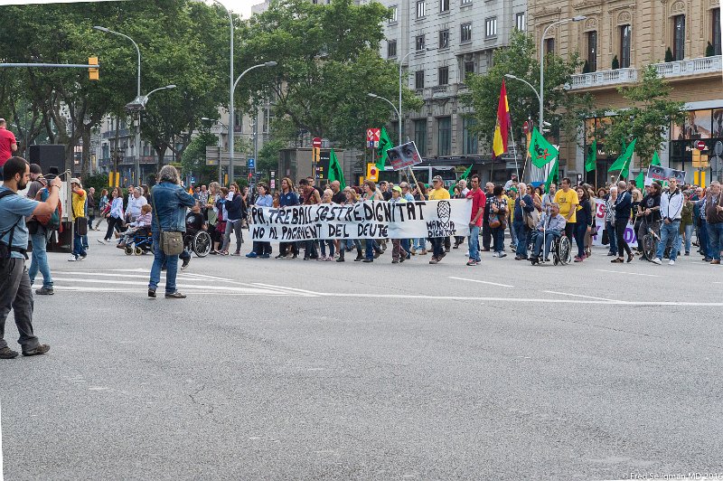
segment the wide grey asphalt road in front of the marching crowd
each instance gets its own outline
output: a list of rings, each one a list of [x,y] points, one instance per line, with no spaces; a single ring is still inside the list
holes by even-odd
[[[151,300],[152,259],[96,237],[50,254],[50,354],[0,362],[6,479],[723,472],[723,270],[697,255],[210,256]]]

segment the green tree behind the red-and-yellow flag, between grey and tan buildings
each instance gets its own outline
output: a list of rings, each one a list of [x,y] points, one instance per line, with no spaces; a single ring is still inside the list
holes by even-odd
[[[500,98],[502,80],[507,85],[507,101],[512,119],[512,131],[520,139],[522,124],[532,118],[537,124],[540,101],[535,93],[520,80],[505,79],[512,74],[527,80],[538,89],[540,84],[540,61],[537,60],[535,43],[531,35],[515,31],[508,47],[493,53],[493,67],[484,74],[469,74],[465,83],[469,93],[462,101],[473,108],[468,114],[476,120],[474,131],[492,146],[494,127],[497,121],[497,100]],[[592,98],[572,93],[565,89],[581,61],[577,54],[568,60],[549,54],[545,58],[545,120],[552,124],[552,136],[566,135],[576,138],[584,127],[584,118],[592,111]],[[559,140],[559,138],[558,138]]]

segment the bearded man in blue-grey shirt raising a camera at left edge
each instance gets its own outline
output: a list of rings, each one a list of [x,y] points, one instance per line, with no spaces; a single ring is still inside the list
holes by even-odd
[[[23,190],[30,181],[30,165],[22,157],[11,157],[5,163],[3,181],[0,186],[0,359],[13,359],[18,353],[5,341],[5,319],[11,308],[23,355],[45,354],[51,348],[40,344],[33,334],[33,292],[25,269],[28,249],[25,217],[50,215],[55,211],[61,179],[52,179],[51,194],[44,203],[18,195],[17,191]]]

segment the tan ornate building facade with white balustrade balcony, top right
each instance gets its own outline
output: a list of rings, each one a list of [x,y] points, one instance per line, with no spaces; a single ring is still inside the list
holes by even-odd
[[[548,52],[565,57],[579,52],[586,61],[585,72],[574,75],[568,88],[591,92],[598,108],[623,108],[617,91],[642,78],[642,69],[653,64],[659,77],[671,87],[671,99],[685,102],[686,121],[670,126],[660,157],[662,165],[686,171],[687,180],[701,183],[720,171],[710,166],[692,165],[695,140],[704,140],[709,154],[716,142],[723,141],[723,74],[721,69],[720,5],[718,0],[530,0],[530,29]],[[552,22],[585,15],[579,23],[560,24],[541,35]],[[666,61],[666,52],[668,61]],[[563,173],[584,172],[590,131],[605,118],[587,120],[585,138],[564,141],[560,149]],[[598,139],[596,176],[588,181],[604,184],[609,165],[604,142]],[[635,158],[631,174],[640,170]],[[700,174],[700,172],[705,174]],[[703,178],[704,177],[704,178]]]

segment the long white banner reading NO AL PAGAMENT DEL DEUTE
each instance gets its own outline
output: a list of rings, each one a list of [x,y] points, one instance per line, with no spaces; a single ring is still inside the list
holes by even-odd
[[[413,239],[469,235],[472,200],[320,203],[249,210],[253,241]]]

